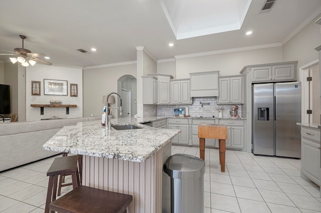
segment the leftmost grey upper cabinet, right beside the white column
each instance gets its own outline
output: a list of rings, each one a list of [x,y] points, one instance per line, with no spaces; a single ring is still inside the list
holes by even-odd
[[[156,104],[157,103],[157,77],[155,76],[142,76],[143,104]]]

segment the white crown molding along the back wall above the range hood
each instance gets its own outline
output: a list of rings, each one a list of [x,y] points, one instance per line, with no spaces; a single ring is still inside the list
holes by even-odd
[[[222,53],[228,53],[228,52],[238,52],[238,51],[246,51],[246,50],[253,50],[253,49],[270,48],[270,47],[277,47],[277,46],[282,46],[282,44],[279,42],[267,43],[267,44],[245,46],[245,47],[238,47],[238,48],[220,49],[220,50],[207,51],[207,52],[181,54],[181,55],[175,55],[174,57],[175,57],[175,59],[187,58],[187,57],[197,57],[197,56],[205,56],[205,55],[212,55],[212,54],[222,54]]]

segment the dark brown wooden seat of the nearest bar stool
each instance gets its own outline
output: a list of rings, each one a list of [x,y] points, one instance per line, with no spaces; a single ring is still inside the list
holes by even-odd
[[[123,213],[132,201],[132,195],[78,186],[50,203],[50,210],[58,213]]]

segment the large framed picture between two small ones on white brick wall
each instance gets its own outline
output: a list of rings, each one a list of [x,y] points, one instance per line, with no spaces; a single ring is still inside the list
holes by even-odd
[[[67,95],[67,80],[44,79],[44,94]]]

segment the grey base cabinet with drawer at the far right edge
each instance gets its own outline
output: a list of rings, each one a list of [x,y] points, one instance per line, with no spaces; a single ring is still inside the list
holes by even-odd
[[[320,129],[301,126],[301,175],[321,186]]]

